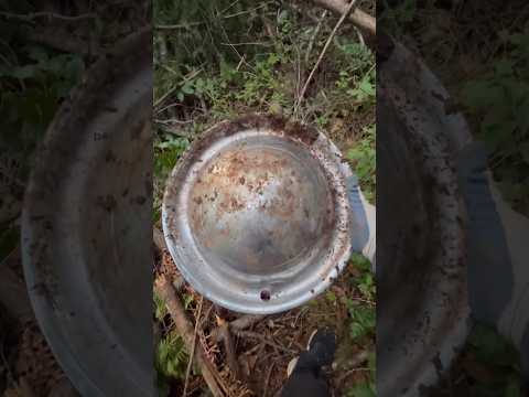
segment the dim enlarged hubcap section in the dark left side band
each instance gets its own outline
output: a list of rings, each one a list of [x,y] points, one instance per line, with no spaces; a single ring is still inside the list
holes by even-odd
[[[139,32],[91,66],[55,116],[25,195],[30,298],[83,396],[155,394],[151,43]]]

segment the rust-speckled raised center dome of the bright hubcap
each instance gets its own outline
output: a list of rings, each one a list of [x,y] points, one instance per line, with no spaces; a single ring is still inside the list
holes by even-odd
[[[188,205],[205,257],[238,272],[276,273],[303,262],[324,236],[333,207],[324,171],[284,146],[249,140],[202,167]]]

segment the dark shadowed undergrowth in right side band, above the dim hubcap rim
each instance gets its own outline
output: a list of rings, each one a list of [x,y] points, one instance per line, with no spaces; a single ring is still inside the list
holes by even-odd
[[[525,215],[529,215],[528,18],[523,0],[508,8],[498,0],[406,0],[384,10],[379,19],[441,78],[454,108],[465,112],[475,138],[487,144],[488,165],[501,194]]]

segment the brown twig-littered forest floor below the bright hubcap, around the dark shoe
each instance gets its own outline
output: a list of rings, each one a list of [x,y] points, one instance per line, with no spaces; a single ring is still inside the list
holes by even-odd
[[[180,279],[169,253],[163,253],[159,258],[159,264],[160,271],[165,276],[172,277],[173,280]],[[354,384],[367,380],[369,373],[366,368],[366,348],[369,346],[353,343],[346,326],[348,314],[345,298],[359,298],[359,292],[352,281],[357,276],[358,271],[349,264],[330,288],[336,299],[328,299],[328,296],[324,293],[301,308],[281,314],[267,315],[241,332],[240,335],[233,335],[241,373],[239,380],[235,379],[227,366],[224,345],[213,341],[212,332],[220,324],[234,321],[240,315],[204,300],[202,313],[206,314],[199,319],[204,324],[204,337],[201,337],[201,343],[217,366],[225,384],[233,389],[231,395],[237,397],[279,396],[282,385],[287,380],[289,362],[306,348],[310,335],[320,328],[335,330],[337,336],[335,361],[331,367],[326,368],[332,396],[343,396],[343,391]],[[199,294],[187,283],[184,285],[183,292],[193,296],[193,302],[199,301]],[[187,314],[193,323],[197,321],[196,303],[191,305]],[[373,341],[367,343],[371,345]],[[201,382],[201,376],[193,377],[192,384],[196,386],[193,396],[201,395],[198,387]],[[203,386],[205,387],[205,385]],[[170,396],[180,396],[179,391],[182,387],[182,382],[175,382]]]

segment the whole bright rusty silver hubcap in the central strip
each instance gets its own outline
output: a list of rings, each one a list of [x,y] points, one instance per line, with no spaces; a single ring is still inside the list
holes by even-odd
[[[322,292],[350,255],[349,175],[334,144],[309,127],[264,116],[217,125],[169,179],[171,255],[223,307],[296,307]]]

